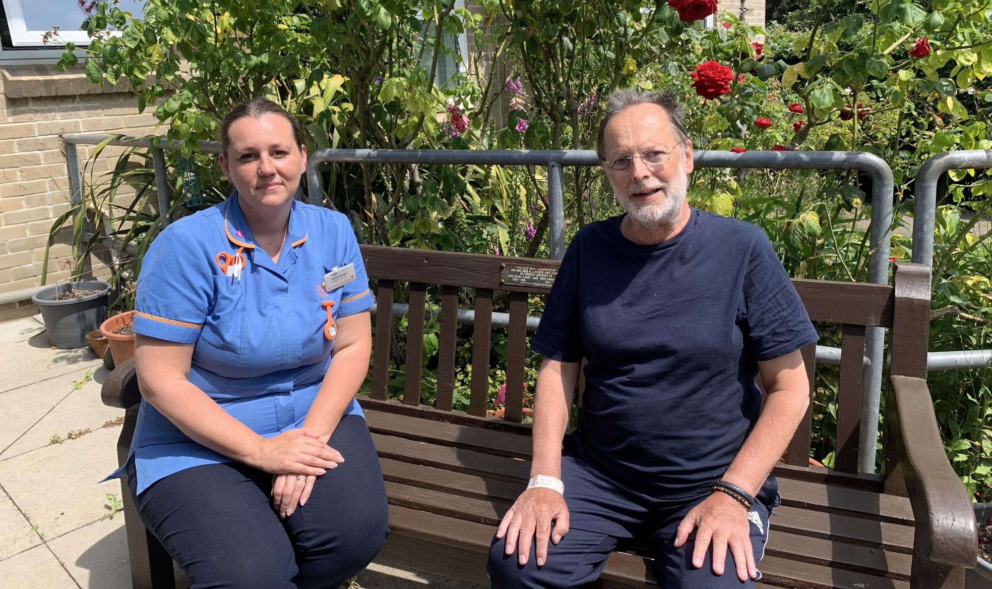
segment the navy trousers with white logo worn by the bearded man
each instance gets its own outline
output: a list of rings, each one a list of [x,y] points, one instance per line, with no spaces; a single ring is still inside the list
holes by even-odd
[[[583,457],[567,452],[561,458],[561,481],[568,506],[568,532],[558,544],[549,542],[548,559],[540,567],[533,541],[527,564],[521,566],[516,553],[505,553],[505,541],[494,537],[488,564],[494,589],[565,589],[590,583],[602,573],[606,557],[617,544],[631,538],[650,544],[661,589],[754,587],[753,581],[741,582],[737,578],[729,549],[724,573],[716,575],[712,548],[706,551],[700,568],[692,565],[694,532],[681,548],[675,547],[676,529],[682,518],[709,496],[708,488],[659,497],[657,492],[619,483]],[[765,553],[769,514],[781,502],[775,477],[768,478],[756,499],[758,504],[751,508],[748,520],[757,561]]]

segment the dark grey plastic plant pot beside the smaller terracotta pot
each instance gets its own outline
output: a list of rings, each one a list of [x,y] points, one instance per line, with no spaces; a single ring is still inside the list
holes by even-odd
[[[67,291],[99,291],[81,298],[53,300]],[[42,309],[42,320],[48,331],[49,341],[61,349],[81,348],[86,344],[86,334],[100,328],[107,318],[110,284],[90,280],[63,283],[39,291],[31,300]]]

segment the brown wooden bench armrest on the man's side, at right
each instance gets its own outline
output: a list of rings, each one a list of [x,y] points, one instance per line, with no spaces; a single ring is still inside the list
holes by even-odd
[[[889,403],[895,410],[888,412],[889,426],[916,518],[914,552],[935,564],[973,567],[978,534],[971,498],[947,461],[927,381],[893,376]]]

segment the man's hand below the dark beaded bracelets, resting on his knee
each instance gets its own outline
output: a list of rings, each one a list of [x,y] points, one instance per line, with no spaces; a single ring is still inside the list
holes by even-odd
[[[746,581],[756,578],[758,569],[751,547],[751,525],[744,507],[724,493],[713,493],[702,503],[685,514],[676,532],[677,548],[681,548],[692,530],[695,543],[692,548],[692,565],[702,566],[709,544],[713,544],[713,572],[722,575],[727,548],[737,567],[737,578]]]

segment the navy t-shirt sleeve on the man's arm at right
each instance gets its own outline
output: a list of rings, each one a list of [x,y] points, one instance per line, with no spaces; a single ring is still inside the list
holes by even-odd
[[[759,361],[785,356],[818,339],[803,300],[760,230],[744,275],[741,310],[745,345]]]

